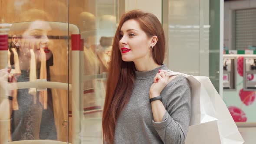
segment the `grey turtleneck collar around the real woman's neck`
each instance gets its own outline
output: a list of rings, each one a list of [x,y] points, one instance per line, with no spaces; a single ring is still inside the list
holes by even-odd
[[[144,71],[144,72],[139,72],[135,70],[135,79],[150,79],[154,78],[155,75],[158,73],[159,69],[164,69],[168,70],[167,66],[165,64],[151,70],[151,71]]]

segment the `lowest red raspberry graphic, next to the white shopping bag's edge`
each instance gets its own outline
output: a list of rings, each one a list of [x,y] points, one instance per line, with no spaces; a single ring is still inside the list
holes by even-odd
[[[228,107],[230,114],[235,122],[246,122],[247,118],[242,109],[235,106]]]

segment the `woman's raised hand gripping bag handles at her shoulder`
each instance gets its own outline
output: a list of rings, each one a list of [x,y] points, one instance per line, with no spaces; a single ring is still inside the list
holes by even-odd
[[[149,90],[150,98],[159,96],[165,86],[168,84],[170,76],[165,76],[165,70],[159,70],[158,74],[154,77],[154,83]]]

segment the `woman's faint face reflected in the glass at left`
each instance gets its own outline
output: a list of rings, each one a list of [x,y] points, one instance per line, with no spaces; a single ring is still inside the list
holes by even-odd
[[[46,54],[46,60],[52,56],[52,52],[49,51],[49,39],[47,33],[51,30],[48,22],[34,21],[30,27],[22,34],[20,39],[21,52],[30,56],[30,49],[33,49],[37,59],[41,59],[40,48],[43,48]]]

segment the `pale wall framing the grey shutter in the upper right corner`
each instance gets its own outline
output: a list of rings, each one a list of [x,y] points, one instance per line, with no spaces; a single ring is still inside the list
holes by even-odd
[[[235,49],[232,47],[232,11],[248,8],[256,8],[256,0],[236,0],[224,2],[224,45],[229,49]]]

